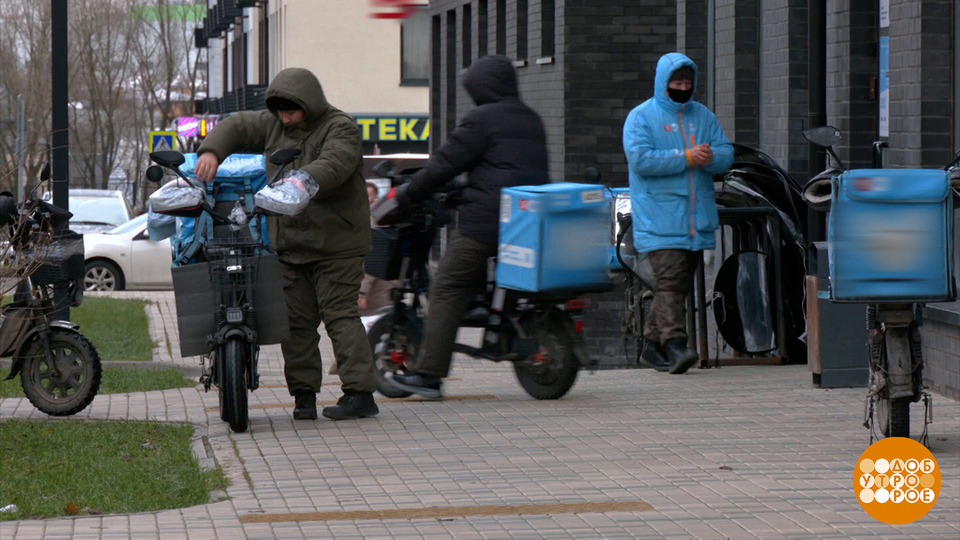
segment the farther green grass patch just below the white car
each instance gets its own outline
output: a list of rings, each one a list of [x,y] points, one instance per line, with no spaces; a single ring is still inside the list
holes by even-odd
[[[147,325],[144,300],[84,297],[80,307],[70,308],[70,320],[80,325],[100,353],[101,360],[153,358],[153,340]]]

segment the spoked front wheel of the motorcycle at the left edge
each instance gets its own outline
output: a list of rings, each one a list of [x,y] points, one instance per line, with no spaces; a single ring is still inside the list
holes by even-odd
[[[21,356],[20,386],[30,403],[51,416],[71,416],[82,411],[100,389],[100,355],[76,330],[50,329],[50,356],[40,336]]]

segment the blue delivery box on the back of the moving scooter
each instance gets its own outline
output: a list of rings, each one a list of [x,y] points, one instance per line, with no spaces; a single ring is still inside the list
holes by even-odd
[[[607,284],[609,208],[602,185],[502,189],[497,285],[538,292]]]

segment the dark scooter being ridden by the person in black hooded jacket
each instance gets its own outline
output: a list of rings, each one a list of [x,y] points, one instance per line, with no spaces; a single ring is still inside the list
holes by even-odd
[[[374,172],[389,178],[393,186],[409,180],[416,169],[398,171],[389,161],[378,163]],[[392,199],[374,208],[378,226],[373,229],[373,250],[365,261],[368,274],[397,280],[393,305],[370,327],[367,335],[373,352],[377,391],[401,398],[409,392],[391,386],[386,379],[413,367],[423,339],[423,323],[429,299],[430,253],[441,227],[451,221],[462,189],[453,182],[427,201],[412,208],[397,207]],[[486,287],[471,299],[460,328],[483,331],[479,347],[457,343],[454,352],[467,356],[510,362],[520,386],[536,399],[559,399],[573,387],[581,367],[592,367],[582,334],[582,321],[574,316],[591,291],[521,292],[497,286],[496,260],[487,265]]]

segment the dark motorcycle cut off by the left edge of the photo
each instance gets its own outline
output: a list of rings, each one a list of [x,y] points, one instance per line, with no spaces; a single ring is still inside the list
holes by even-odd
[[[83,300],[83,235],[67,230],[70,212],[34,197],[49,178],[46,164],[21,204],[6,196],[9,204],[0,205],[0,226],[8,233],[3,278],[16,280],[13,301],[2,307],[0,357],[13,357],[4,380],[20,375],[34,407],[70,416],[96,397],[102,367],[79,325],[56,318],[64,303],[75,307]],[[63,291],[61,302],[56,289]]]

